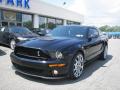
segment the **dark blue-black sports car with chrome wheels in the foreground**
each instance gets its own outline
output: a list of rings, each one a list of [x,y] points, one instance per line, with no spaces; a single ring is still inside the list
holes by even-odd
[[[18,43],[11,61],[18,72],[55,79],[79,78],[84,64],[107,58],[108,39],[95,27],[60,26],[49,35]]]

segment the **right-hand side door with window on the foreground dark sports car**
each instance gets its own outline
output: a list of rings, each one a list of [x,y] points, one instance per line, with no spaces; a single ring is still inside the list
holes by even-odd
[[[86,45],[87,59],[90,60],[100,54],[102,48],[101,37],[96,28],[90,28]]]

